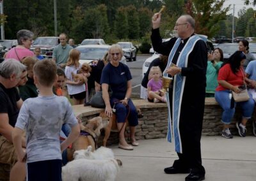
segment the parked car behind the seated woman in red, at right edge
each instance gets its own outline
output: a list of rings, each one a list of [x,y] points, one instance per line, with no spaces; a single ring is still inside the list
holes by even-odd
[[[238,43],[221,43],[216,45],[215,48],[221,48],[223,51],[224,61],[230,57],[230,55],[234,54],[238,50]],[[249,44],[249,51],[256,57],[256,43]]]

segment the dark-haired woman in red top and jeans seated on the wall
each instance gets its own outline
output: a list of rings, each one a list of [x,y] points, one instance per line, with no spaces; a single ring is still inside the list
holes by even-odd
[[[221,117],[221,122],[223,122],[223,131],[221,136],[225,138],[233,138],[229,130],[229,124],[234,117],[236,105],[241,106],[243,112],[243,119],[241,123],[236,123],[239,135],[246,136],[246,122],[251,118],[254,101],[252,96],[249,94],[250,99],[248,101],[242,101],[235,103],[232,98],[232,92],[241,92],[239,87],[243,86],[245,83],[243,64],[246,59],[244,52],[236,51],[230,56],[227,62],[223,63],[219,75],[218,75],[218,87],[215,92],[215,99],[223,108],[223,113]]]

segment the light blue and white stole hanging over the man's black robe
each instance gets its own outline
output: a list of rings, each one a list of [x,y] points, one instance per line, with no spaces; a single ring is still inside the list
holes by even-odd
[[[180,52],[180,55],[177,60],[177,66],[180,68],[186,68],[188,67],[188,57],[189,54],[192,52],[193,48],[195,47],[195,44],[198,40],[201,40],[201,38],[198,35],[193,35],[189,38],[188,42]],[[175,52],[177,51],[177,48],[180,45],[181,38],[178,38],[175,41],[175,44],[172,48],[172,51],[170,52],[169,58],[168,58],[168,64],[166,66],[166,69],[168,69],[172,63],[172,59],[175,55]],[[166,73],[166,69],[164,70],[163,76],[168,76]],[[181,74],[177,74],[174,76],[173,80],[173,101],[172,101],[172,117],[170,116],[170,99],[168,92],[165,93],[166,95],[166,101],[168,105],[168,133],[167,133],[167,141],[172,142],[172,135],[175,145],[175,152],[182,153],[182,144],[180,139],[180,131],[179,131],[179,121],[180,121],[180,108],[182,103],[182,96],[184,91],[184,85],[186,82],[186,76],[181,76]],[[172,122],[173,119],[173,122]]]

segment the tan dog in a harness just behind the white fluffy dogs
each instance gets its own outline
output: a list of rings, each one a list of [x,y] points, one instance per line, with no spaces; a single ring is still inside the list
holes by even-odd
[[[72,143],[72,147],[67,150],[68,161],[73,160],[73,154],[76,150],[87,149],[89,145],[92,146],[92,150],[95,150],[95,140],[100,136],[100,129],[106,125],[106,123],[103,124],[101,117],[94,117],[88,120],[85,126],[81,122],[81,134],[77,140]]]

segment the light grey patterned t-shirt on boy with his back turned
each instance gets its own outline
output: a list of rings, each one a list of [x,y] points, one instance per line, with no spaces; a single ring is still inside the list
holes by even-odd
[[[71,127],[78,124],[67,98],[38,96],[24,101],[15,127],[26,129],[27,163],[61,159],[60,131],[64,123]]]

